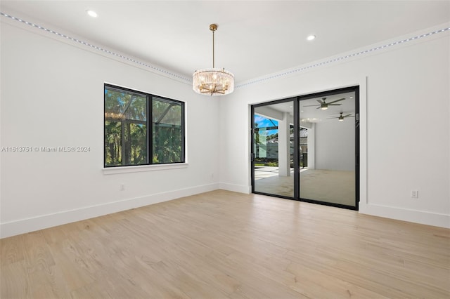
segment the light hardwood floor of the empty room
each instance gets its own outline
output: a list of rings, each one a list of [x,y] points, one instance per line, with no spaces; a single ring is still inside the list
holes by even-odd
[[[217,190],[1,239],[6,298],[450,298],[450,230]]]

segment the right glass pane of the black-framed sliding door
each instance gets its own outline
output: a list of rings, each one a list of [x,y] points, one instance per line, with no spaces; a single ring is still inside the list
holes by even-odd
[[[350,91],[300,100],[301,199],[356,206],[355,98]]]

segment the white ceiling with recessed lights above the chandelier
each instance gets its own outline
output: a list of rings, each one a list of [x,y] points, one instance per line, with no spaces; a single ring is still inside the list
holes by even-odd
[[[212,67],[216,23],[216,67],[237,84],[450,20],[450,1],[2,0],[0,8],[187,78]]]

